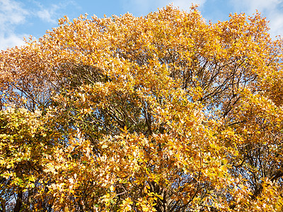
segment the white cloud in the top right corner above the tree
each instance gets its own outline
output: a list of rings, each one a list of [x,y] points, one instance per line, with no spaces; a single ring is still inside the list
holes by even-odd
[[[231,4],[237,9],[248,15],[258,10],[262,16],[270,20],[270,34],[283,36],[283,0],[230,0]]]

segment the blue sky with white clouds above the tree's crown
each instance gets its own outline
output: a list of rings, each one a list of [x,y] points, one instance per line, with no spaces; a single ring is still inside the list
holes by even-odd
[[[270,20],[272,37],[283,35],[283,0],[0,0],[0,49],[23,45],[23,37],[29,35],[41,37],[64,15],[70,19],[85,13],[98,18],[127,12],[144,16],[171,3],[187,11],[192,3],[199,4],[202,16],[214,23],[228,20],[229,13],[252,15],[258,10]]]

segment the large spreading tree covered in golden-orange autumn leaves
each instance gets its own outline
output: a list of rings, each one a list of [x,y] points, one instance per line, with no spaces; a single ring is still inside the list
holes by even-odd
[[[259,13],[64,17],[0,57],[2,211],[282,211],[282,40]]]

